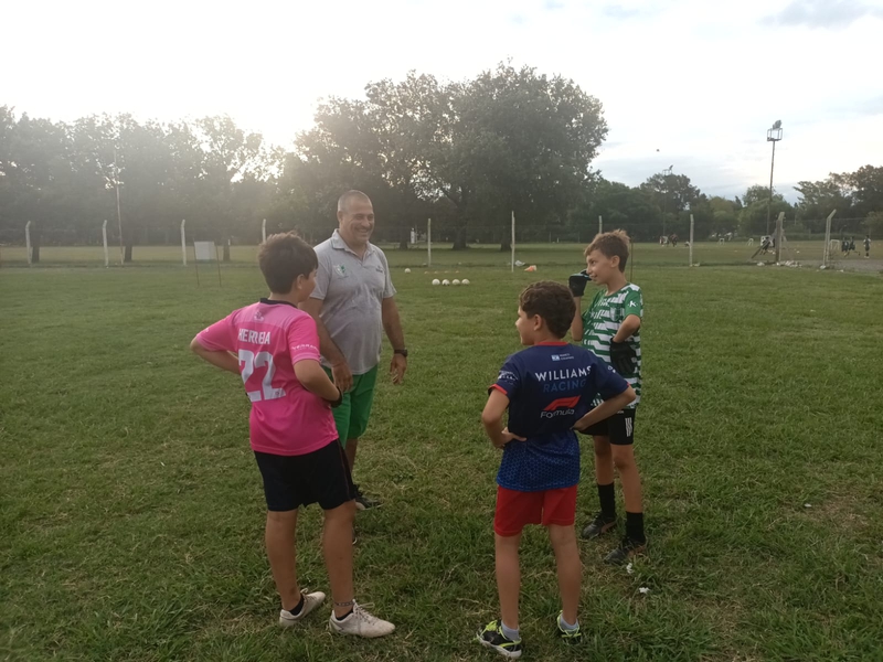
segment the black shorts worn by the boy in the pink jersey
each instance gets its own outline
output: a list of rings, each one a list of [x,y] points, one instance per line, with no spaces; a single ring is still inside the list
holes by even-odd
[[[269,511],[291,511],[310,503],[332,510],[355,498],[350,466],[337,439],[302,456],[255,451],[255,459]]]

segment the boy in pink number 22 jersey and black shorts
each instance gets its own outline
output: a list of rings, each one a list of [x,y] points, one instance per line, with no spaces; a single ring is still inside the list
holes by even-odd
[[[294,626],[325,601],[321,591],[301,594],[295,566],[298,509],[318,503],[325,511],[322,553],[334,600],[329,629],[368,638],[389,634],[395,626],[353,598],[355,492],[331,416],[341,393],[319,363],[316,322],[297,308],[316,285],[316,253],[294,233],[279,234],[260,245],[258,264],[270,296],[204,329],[190,349],[240,374],[252,402],[248,427],[267,500],[265,540],[283,604],[279,624]]]

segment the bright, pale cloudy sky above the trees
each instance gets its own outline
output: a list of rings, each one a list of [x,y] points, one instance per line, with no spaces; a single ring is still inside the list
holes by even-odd
[[[53,120],[228,114],[290,146],[317,99],[408,70],[512,58],[604,104],[593,163],[635,185],[670,164],[709,194],[883,166],[883,0],[6,0],[0,105]],[[658,151],[657,151],[658,150]]]

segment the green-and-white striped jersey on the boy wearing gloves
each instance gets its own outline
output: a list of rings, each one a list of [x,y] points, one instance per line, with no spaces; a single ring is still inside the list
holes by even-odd
[[[619,325],[630,314],[643,318],[643,296],[641,288],[631,282],[613,295],[608,295],[606,289],[598,290],[592,305],[583,313],[583,346],[594,352],[607,364],[610,363],[610,341],[613,341]],[[626,343],[635,350],[635,371],[631,375],[621,375],[629,386],[635,389],[637,398],[626,407],[634,409],[641,402],[641,332],[628,338]],[[600,403],[597,399],[594,404]]]

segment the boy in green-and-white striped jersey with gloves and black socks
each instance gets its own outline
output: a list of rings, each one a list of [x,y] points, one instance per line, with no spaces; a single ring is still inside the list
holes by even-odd
[[[585,430],[595,441],[595,478],[600,511],[583,528],[586,540],[616,528],[614,467],[623,481],[626,502],[626,535],[605,559],[621,564],[643,552],[643,505],[641,479],[635,463],[635,410],[641,399],[641,340],[643,316],[641,289],[626,280],[629,254],[628,235],[617,229],[595,236],[586,247],[586,269],[571,276],[568,285],[576,303],[571,333],[574,340],[606,361],[635,389],[635,401],[614,416]],[[582,297],[588,280],[604,286],[581,314]]]

